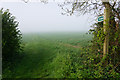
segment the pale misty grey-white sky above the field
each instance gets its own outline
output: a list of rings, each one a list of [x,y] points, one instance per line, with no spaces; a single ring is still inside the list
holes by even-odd
[[[67,16],[57,3],[24,3],[4,2],[4,9],[19,21],[21,32],[52,32],[52,31],[88,31],[90,29],[90,15]]]

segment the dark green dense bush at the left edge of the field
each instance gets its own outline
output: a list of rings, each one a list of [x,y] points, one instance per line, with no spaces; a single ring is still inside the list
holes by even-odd
[[[21,33],[18,29],[18,22],[15,17],[7,9],[2,13],[2,59],[3,59],[3,72],[14,62],[20,58],[21,47]]]

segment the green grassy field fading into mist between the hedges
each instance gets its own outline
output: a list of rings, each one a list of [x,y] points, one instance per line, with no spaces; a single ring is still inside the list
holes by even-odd
[[[23,34],[24,57],[12,72],[6,70],[4,77],[63,78],[69,75],[71,77],[79,76],[75,72],[72,75],[68,72],[70,69],[72,71],[77,69],[79,63],[74,55],[83,53],[82,48],[90,45],[91,39],[92,35],[85,34],[85,32]],[[70,55],[75,61],[72,61]],[[82,60],[82,57],[78,58]],[[71,62],[76,66],[70,67]]]

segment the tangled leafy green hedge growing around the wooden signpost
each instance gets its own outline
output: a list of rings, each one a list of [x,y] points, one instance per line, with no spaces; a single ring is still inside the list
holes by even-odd
[[[109,26],[109,54],[106,55],[104,58],[102,57],[102,55],[103,43],[106,33],[103,32],[103,22],[96,23],[92,27],[93,29],[89,31],[89,33],[94,35],[92,40],[93,44],[91,46],[92,53],[94,53],[93,55],[99,56],[101,58],[100,62],[98,62],[96,65],[96,68],[99,68],[98,70],[96,70],[95,73],[104,78],[118,78],[118,75],[120,76],[120,29],[117,28],[114,17],[111,16]],[[106,61],[108,61],[108,65],[103,67]]]

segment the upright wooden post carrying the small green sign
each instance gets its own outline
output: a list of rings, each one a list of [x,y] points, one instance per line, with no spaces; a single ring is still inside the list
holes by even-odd
[[[105,57],[109,53],[109,20],[110,20],[110,7],[108,4],[105,4],[104,9],[104,33],[105,33],[105,40],[103,45],[103,57]]]

